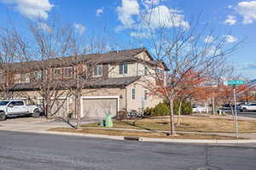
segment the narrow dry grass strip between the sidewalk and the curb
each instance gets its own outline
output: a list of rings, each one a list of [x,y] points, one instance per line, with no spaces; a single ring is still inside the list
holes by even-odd
[[[66,133],[92,133],[92,134],[104,134],[104,135],[113,135],[113,136],[132,136],[132,137],[137,136],[137,137],[161,138],[161,139],[236,139],[234,137],[218,136],[218,135],[178,133],[177,136],[166,136],[166,133],[134,132],[134,131],[96,129],[96,128],[73,129],[68,127],[57,127],[57,128],[50,129],[50,131],[66,132]]]

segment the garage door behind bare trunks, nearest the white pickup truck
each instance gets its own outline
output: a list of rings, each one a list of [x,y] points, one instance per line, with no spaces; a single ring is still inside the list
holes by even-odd
[[[67,103],[68,99],[55,99],[53,100],[53,105],[51,108],[51,114],[55,114],[53,115],[53,117],[66,117],[67,116],[67,111],[68,111],[68,103]],[[38,99],[39,101],[39,105],[43,105],[43,100],[42,99]]]

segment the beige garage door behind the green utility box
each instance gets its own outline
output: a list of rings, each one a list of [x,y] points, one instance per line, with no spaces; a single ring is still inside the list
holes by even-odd
[[[83,97],[81,102],[81,117],[104,118],[110,113],[116,116],[119,111],[119,96]]]

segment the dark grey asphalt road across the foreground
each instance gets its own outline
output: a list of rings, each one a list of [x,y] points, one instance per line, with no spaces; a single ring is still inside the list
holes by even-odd
[[[0,144],[4,170],[256,169],[256,144],[165,144],[4,131]]]

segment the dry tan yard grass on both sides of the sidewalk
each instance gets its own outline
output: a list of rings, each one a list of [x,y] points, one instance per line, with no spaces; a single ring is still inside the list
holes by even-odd
[[[175,122],[177,122],[177,118],[175,119]],[[169,117],[114,121],[113,128],[101,127],[99,126],[99,123],[90,123],[82,125],[81,129],[60,127],[50,130],[68,133],[93,133],[113,136],[138,136],[165,139],[235,139],[234,137],[209,134],[234,133],[234,129],[234,122],[230,119],[230,116],[183,116],[181,126],[176,126],[178,135],[173,137],[166,135],[170,130]],[[256,121],[240,120],[239,131],[240,133],[256,133]]]

